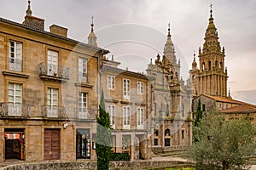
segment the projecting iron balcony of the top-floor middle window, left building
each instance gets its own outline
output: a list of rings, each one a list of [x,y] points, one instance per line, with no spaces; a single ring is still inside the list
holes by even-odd
[[[55,82],[67,82],[69,80],[69,68],[58,65],[45,65],[44,62],[39,64],[39,77],[44,80]]]

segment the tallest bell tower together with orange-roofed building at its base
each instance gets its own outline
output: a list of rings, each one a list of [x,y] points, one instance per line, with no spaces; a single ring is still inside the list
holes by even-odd
[[[192,111],[195,113],[199,99],[204,113],[220,113],[227,120],[247,116],[255,126],[255,105],[232,99],[227,95],[227,68],[224,67],[225,51],[218,42],[218,31],[213,23],[212,7],[203,48],[199,48],[199,68],[194,60],[189,71],[193,84]]]

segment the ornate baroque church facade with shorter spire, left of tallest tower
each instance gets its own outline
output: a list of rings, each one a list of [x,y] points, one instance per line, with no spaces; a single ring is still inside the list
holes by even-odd
[[[154,77],[154,103],[152,128],[154,131],[153,151],[163,152],[180,148],[192,140],[190,105],[192,88],[180,78],[180,61],[177,62],[170,34],[170,25],[164,55],[157,55],[155,64],[150,62],[147,75]]]

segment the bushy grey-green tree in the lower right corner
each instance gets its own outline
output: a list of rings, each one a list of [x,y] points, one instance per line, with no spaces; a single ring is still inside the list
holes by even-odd
[[[185,157],[195,161],[196,169],[246,169],[254,152],[254,131],[246,119],[225,121],[223,116],[204,116],[195,127],[198,141]]]

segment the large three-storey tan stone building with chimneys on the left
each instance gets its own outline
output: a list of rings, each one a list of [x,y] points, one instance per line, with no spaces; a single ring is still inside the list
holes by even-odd
[[[99,59],[108,50],[32,16],[0,18],[0,162],[96,160]]]

